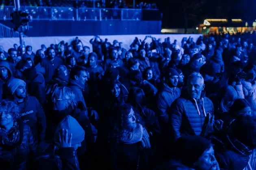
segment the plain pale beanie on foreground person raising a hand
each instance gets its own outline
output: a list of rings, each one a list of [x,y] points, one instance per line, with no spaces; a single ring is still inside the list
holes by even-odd
[[[62,121],[59,122],[56,130],[54,141],[59,142],[59,132],[67,129],[68,135],[72,133],[72,144],[79,144],[85,140],[85,131],[76,121],[76,119],[70,115],[67,115]]]

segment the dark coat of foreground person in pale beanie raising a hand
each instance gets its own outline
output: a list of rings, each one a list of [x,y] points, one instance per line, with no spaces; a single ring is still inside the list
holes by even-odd
[[[54,152],[54,144],[42,144],[43,151],[38,151],[39,157],[35,161],[35,170],[79,170],[76,164],[76,151],[73,147],[60,148]]]

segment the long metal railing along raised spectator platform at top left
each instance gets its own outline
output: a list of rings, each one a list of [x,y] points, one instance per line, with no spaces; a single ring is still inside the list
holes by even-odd
[[[72,8],[48,6],[21,6],[33,20],[141,20],[141,9]],[[0,20],[10,20],[14,6],[0,6]]]

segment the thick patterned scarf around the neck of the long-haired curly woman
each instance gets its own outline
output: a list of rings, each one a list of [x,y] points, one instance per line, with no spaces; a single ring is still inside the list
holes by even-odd
[[[149,135],[147,130],[142,127],[141,124],[136,123],[136,127],[132,129],[132,132],[123,133],[121,135],[120,143],[123,144],[134,144],[141,142],[143,148],[150,148]]]

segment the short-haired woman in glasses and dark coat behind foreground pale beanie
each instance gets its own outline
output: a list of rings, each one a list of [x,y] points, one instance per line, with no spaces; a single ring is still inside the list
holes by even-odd
[[[78,158],[89,149],[93,149],[94,136],[91,129],[91,123],[85,114],[86,107],[80,102],[76,102],[75,94],[68,87],[58,87],[52,96],[53,111],[47,116],[47,134],[50,140],[54,138],[54,132],[58,123],[67,115],[70,115],[78,121],[85,131],[85,140],[81,142],[81,147],[78,148]]]

